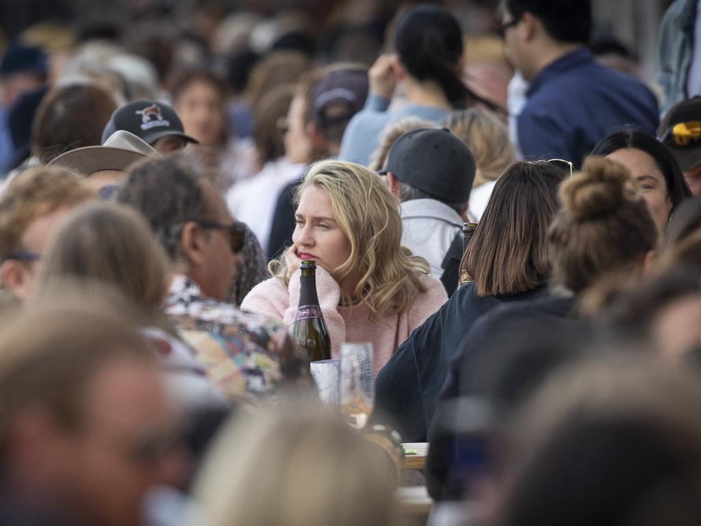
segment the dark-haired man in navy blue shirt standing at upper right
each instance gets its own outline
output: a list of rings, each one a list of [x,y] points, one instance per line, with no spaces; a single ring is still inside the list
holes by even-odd
[[[632,76],[594,62],[585,47],[591,29],[590,0],[505,0],[505,51],[530,83],[516,125],[525,159],[581,166],[615,128],[636,126],[655,135],[655,96]]]

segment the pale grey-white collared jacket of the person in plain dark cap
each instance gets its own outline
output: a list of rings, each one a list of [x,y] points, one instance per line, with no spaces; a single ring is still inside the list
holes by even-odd
[[[400,206],[402,245],[428,261],[431,274],[443,275],[441,264],[463,220],[448,205],[435,199],[412,199]]]

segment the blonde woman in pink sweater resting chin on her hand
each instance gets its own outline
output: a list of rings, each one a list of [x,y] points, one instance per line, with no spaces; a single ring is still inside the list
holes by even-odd
[[[380,177],[341,161],[315,163],[297,191],[297,226],[285,257],[269,266],[242,307],[290,325],[299,300],[299,265],[313,259],[332,356],[343,342],[372,342],[375,372],[447,300],[425,259],[400,245],[397,200]]]

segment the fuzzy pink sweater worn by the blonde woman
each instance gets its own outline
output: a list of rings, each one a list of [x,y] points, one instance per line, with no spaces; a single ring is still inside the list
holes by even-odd
[[[256,285],[243,299],[241,308],[283,318],[288,328],[294,320],[299,303],[299,276],[297,270],[290,278],[290,286],[283,281],[270,278]],[[372,342],[375,374],[385,365],[394,351],[411,331],[421,325],[447,302],[442,283],[431,276],[421,278],[426,292],[421,292],[414,304],[400,314],[382,316],[379,321],[370,321],[369,309],[364,303],[340,306],[341,289],[331,275],[317,267],[316,290],[321,310],[331,337],[331,354],[339,358],[343,342]]]

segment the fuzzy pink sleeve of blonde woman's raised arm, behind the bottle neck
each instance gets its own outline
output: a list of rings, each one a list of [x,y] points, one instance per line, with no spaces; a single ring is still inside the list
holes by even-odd
[[[287,310],[283,321],[289,327],[294,320],[294,314],[297,312],[299,305],[299,276],[300,271],[292,274],[290,278],[290,297],[287,303]],[[331,337],[331,356],[339,358],[341,356],[341,344],[346,341],[346,321],[339,313],[337,307],[341,299],[341,288],[322,267],[316,267],[316,294],[319,297],[319,305],[324,315],[324,321],[329,329],[329,337]]]

